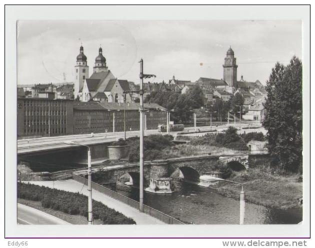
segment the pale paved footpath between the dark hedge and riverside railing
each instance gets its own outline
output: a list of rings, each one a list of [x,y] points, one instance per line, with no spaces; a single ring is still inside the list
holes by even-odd
[[[83,185],[72,179],[69,180],[59,180],[59,181],[29,181],[29,183],[42,185],[50,188],[56,188],[61,190],[66,190],[70,192],[79,192],[87,195],[87,186]],[[139,212],[137,209],[130,207],[118,200],[115,200],[103,193],[96,190],[92,191],[92,198],[94,200],[100,201],[106,206],[115,209],[118,212],[123,213],[125,216],[134,219],[137,224],[165,224],[164,222],[155,219],[145,213]],[[87,204],[87,202],[86,202]]]

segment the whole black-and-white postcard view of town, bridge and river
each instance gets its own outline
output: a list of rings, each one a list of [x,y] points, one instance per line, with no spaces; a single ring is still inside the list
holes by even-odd
[[[13,224],[309,223],[302,20],[89,17],[15,22]]]

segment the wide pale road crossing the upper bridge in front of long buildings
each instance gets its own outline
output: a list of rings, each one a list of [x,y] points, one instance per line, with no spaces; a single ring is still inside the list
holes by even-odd
[[[233,123],[229,124],[233,126]],[[236,123],[236,127],[248,127],[250,124],[247,123]],[[254,123],[251,125],[255,125]],[[257,124],[255,125],[257,126]],[[216,129],[217,132],[221,132],[227,128],[227,125],[220,125],[217,127],[212,127]],[[209,130],[209,126],[196,127],[197,130],[206,131]],[[194,127],[185,127],[185,132],[193,132]],[[244,129],[246,131],[256,129]],[[260,130],[259,130],[260,131]],[[171,135],[177,135],[182,131],[170,132]],[[144,135],[158,134],[159,132],[155,130],[145,130]],[[162,133],[165,134],[165,133]],[[139,136],[139,131],[127,131],[126,137]],[[41,138],[29,138],[29,139],[19,139],[17,140],[17,154],[26,154],[32,152],[48,151],[55,149],[64,149],[75,147],[79,145],[70,145],[65,142],[76,142],[82,145],[93,145],[101,144],[106,142],[112,142],[124,137],[124,132],[114,132],[114,133],[91,133],[91,134],[76,134],[76,135],[65,135],[65,136],[53,136],[53,137],[41,137]]]

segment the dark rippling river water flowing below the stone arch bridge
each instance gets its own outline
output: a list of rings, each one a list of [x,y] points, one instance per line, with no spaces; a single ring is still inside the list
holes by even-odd
[[[144,204],[194,224],[238,224],[239,201],[221,196],[214,189],[183,181],[173,181],[171,194],[144,191]],[[122,183],[106,185],[116,192],[139,200],[138,188]],[[280,210],[247,203],[244,224],[295,224],[302,220],[302,209]]]

